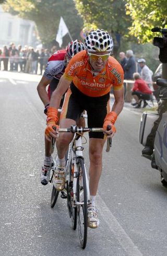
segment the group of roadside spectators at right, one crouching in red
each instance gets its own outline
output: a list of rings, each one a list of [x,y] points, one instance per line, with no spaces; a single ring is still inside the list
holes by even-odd
[[[124,70],[124,88],[125,102],[132,102],[135,98],[136,102],[132,103],[135,108],[147,106],[146,100],[152,100],[152,71],[146,65],[145,59],[136,59],[132,50],[127,50],[126,54],[120,52],[120,64]]]

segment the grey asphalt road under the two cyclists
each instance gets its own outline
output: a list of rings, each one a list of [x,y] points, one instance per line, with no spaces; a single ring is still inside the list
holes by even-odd
[[[167,189],[159,171],[140,156],[140,111],[129,104],[116,122],[111,152],[103,153],[100,226],[88,229],[85,250],[78,231],[71,229],[66,201],[58,198],[50,207],[52,187],[40,184],[45,115],[36,90],[39,80],[0,73],[0,255],[167,255]]]

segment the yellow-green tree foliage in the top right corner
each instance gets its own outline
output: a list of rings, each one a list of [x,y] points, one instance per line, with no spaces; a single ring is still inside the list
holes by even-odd
[[[126,9],[126,14],[133,19],[129,34],[140,43],[150,42],[151,28],[164,27],[167,22],[166,0],[127,0]]]

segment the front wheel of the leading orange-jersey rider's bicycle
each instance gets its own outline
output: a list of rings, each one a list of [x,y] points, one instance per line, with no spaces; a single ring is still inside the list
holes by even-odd
[[[79,177],[77,179],[77,219],[80,245],[85,249],[87,244],[88,230],[88,204],[87,204],[87,184],[85,177],[84,159],[80,158],[78,163]]]

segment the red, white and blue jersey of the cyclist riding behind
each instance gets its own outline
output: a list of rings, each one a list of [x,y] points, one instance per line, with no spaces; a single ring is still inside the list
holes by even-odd
[[[59,80],[64,74],[66,68],[65,54],[66,50],[58,50],[49,58],[43,74],[47,79],[56,78]]]

